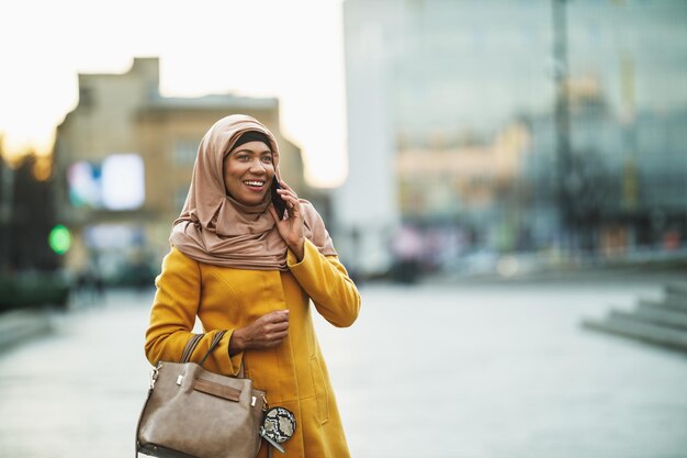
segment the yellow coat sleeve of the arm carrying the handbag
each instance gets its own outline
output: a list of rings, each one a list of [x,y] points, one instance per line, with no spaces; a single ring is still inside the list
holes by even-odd
[[[180,361],[187,343],[193,337],[195,315],[201,300],[200,265],[172,248],[162,260],[162,271],[156,278],[157,292],[146,331],[145,353],[151,365],[158,361]],[[219,329],[207,331],[199,342],[190,360],[199,362]],[[236,375],[243,353],[229,357],[228,329],[203,367],[217,373]]]

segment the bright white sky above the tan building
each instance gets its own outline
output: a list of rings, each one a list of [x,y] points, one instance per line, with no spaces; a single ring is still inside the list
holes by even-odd
[[[160,59],[160,92],[277,97],[306,178],[346,176],[342,0],[22,0],[0,3],[0,135],[48,154],[77,75]]]

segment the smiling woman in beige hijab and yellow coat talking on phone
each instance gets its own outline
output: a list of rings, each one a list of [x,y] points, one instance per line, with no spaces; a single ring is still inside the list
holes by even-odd
[[[281,180],[286,212],[278,215],[273,180],[279,148],[257,120],[227,116],[205,134],[156,280],[146,356],[154,365],[180,360],[196,315],[204,335],[192,361],[227,329],[204,367],[236,376],[243,365],[270,405],[295,414],[285,456],[348,457],[308,304],[350,326],[360,297],[317,211]],[[258,456],[267,456],[264,442]]]

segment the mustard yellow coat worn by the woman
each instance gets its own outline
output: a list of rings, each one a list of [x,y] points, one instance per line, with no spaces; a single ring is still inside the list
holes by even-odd
[[[228,332],[204,368],[246,377],[267,391],[270,405],[281,405],[296,416],[295,435],[280,457],[346,458],[350,454],[311,317],[312,303],[335,326],[350,326],[358,317],[360,295],[336,256],[323,256],[305,241],[299,262],[288,254],[288,271],[241,270],[195,261],[172,247],[156,279],[157,293],[146,332],[145,351],[150,364],[178,361],[195,316],[204,337],[191,360],[200,361],[218,329]],[[247,326],[275,310],[289,309],[289,336],[269,349],[250,349],[229,357],[234,329]],[[259,457],[267,457],[263,442]]]

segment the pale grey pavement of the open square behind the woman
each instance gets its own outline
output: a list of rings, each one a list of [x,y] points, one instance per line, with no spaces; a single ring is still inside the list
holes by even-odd
[[[579,326],[661,287],[362,286],[352,327],[316,323],[352,456],[687,457],[687,357]],[[0,354],[0,457],[133,455],[151,298],[109,291]]]

